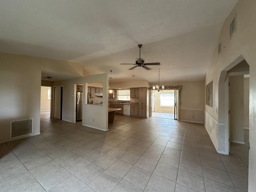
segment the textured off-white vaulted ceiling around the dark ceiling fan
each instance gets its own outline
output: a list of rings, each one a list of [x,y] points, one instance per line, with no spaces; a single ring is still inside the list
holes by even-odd
[[[204,80],[237,0],[1,0],[0,52],[79,62],[112,82]],[[160,62],[152,70],[120,63]],[[132,77],[134,75],[134,77]],[[61,78],[59,76],[58,78]],[[63,76],[63,78],[65,78]]]

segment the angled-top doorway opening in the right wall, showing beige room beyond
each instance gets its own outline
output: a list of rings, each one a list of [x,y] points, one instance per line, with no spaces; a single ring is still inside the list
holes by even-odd
[[[229,152],[230,143],[249,147],[249,70],[245,60],[228,70]]]

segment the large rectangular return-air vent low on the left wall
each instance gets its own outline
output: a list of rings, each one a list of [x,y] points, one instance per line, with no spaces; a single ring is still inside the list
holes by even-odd
[[[33,119],[11,121],[10,137],[18,137],[32,133]]]

